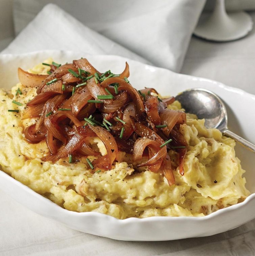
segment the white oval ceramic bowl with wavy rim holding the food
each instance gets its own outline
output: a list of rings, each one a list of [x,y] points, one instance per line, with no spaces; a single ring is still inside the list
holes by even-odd
[[[11,88],[18,82],[17,68],[28,69],[52,57],[58,63],[86,57],[99,70],[121,72],[125,61],[130,66],[129,81],[137,89],[156,88],[162,95],[176,95],[189,88],[205,88],[218,94],[226,103],[229,128],[255,143],[255,95],[208,79],[177,74],[118,56],[81,56],[68,51],[44,51],[25,55],[0,55],[1,86]],[[0,171],[0,187],[22,205],[43,216],[85,233],[118,240],[160,241],[209,236],[236,228],[255,217],[255,155],[237,145],[236,154],[246,170],[244,176],[251,195],[244,202],[216,211],[205,217],[148,217],[124,220],[96,212],[72,212],[62,209],[14,178]],[[35,227],[34,227],[35,228]]]

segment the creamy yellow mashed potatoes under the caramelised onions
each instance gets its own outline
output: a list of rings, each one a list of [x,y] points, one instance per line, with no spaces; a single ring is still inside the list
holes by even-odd
[[[51,63],[51,60],[48,60]],[[49,67],[38,65],[33,73],[46,74]],[[23,94],[15,95],[20,88]],[[116,218],[150,216],[204,216],[218,209],[243,201],[244,170],[235,156],[235,142],[216,129],[206,129],[203,120],[187,114],[187,124],[181,125],[188,147],[184,161],[184,176],[178,171],[178,155],[169,154],[176,184],[169,186],[164,176],[133,168],[130,156],[120,152],[113,169],[92,171],[86,158],[71,163],[60,159],[56,164],[42,162],[48,154],[46,143],[30,144],[24,138],[24,127],[36,119],[21,120],[25,103],[36,95],[35,88],[21,84],[11,93],[0,90],[0,167],[1,170],[49,198],[59,206],[77,212],[95,211]],[[23,103],[17,106],[12,100]],[[181,109],[175,101],[168,108]],[[7,112],[19,109],[20,112]],[[106,154],[98,137],[88,143]],[[89,157],[91,161],[94,156]]]

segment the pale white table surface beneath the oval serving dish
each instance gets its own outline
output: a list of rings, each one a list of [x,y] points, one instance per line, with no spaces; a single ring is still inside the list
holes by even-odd
[[[255,13],[250,14],[255,22]],[[181,72],[255,94],[254,45],[255,28],[247,37],[228,43],[193,37]],[[66,228],[31,212],[1,190],[0,205],[0,255],[255,255],[255,219],[210,237],[127,242]]]

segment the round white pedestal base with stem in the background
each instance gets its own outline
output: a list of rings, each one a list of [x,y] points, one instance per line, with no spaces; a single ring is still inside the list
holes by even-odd
[[[202,14],[194,35],[211,41],[232,41],[246,36],[253,22],[245,12],[226,13],[225,0],[216,0],[211,16]]]

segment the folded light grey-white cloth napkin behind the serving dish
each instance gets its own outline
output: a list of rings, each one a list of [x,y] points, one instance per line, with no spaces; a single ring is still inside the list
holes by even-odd
[[[15,27],[47,2],[16,0]],[[48,4],[2,53],[75,49],[120,55],[179,72],[205,0],[53,2],[86,26],[58,6]]]

